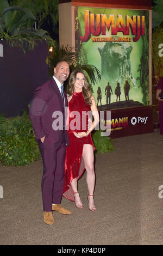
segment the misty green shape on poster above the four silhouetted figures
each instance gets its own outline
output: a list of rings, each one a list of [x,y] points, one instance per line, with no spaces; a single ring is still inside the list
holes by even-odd
[[[98,47],[102,76],[114,84],[117,82],[124,84],[126,78],[133,80],[130,62],[132,50],[133,46],[127,46],[125,42],[106,42],[104,47]],[[135,85],[134,81],[133,85]]]

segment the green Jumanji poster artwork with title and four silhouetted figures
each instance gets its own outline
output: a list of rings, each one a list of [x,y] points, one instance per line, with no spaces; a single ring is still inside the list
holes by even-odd
[[[149,105],[149,11],[75,7],[77,64],[95,65],[99,110]]]

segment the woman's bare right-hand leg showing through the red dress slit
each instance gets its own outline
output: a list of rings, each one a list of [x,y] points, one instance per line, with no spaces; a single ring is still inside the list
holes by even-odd
[[[83,159],[86,169],[86,183],[89,191],[89,208],[92,211],[96,210],[95,204],[94,204],[94,197],[93,193],[95,190],[95,172],[94,172],[94,154],[93,154],[93,148],[90,144],[85,144],[83,148]],[[92,195],[92,196],[90,196]]]

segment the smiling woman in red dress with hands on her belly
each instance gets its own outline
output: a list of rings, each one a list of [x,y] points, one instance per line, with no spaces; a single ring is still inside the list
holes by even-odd
[[[90,92],[90,85],[82,70],[75,70],[70,75],[68,99],[67,132],[70,146],[66,149],[65,178],[63,196],[74,201],[77,208],[83,208],[78,193],[77,181],[86,169],[86,182],[89,191],[87,200],[89,209],[95,211],[94,190],[95,146],[92,142],[91,131],[99,123],[99,114],[95,98]],[[93,123],[88,125],[89,115],[93,115]],[[89,127],[89,128],[87,128]]]

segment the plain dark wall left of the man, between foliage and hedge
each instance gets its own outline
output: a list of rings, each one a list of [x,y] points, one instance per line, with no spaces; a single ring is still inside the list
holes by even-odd
[[[5,40],[0,44],[0,114],[15,117],[28,109],[35,88],[48,80],[47,42],[37,42],[26,54]]]

